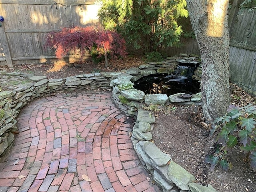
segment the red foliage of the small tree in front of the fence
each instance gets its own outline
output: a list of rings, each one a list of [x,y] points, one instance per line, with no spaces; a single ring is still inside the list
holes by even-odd
[[[126,55],[125,41],[120,34],[109,30],[96,30],[93,27],[76,26],[51,32],[47,35],[46,46],[56,49],[57,58],[62,58],[74,50],[78,50],[82,58],[86,50],[90,52],[92,47],[97,48],[99,56],[105,52],[112,57]]]

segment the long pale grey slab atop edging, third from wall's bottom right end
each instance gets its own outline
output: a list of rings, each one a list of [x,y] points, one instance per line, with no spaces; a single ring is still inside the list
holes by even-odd
[[[157,166],[165,166],[171,160],[171,156],[160,151],[154,143],[140,141],[139,144]]]

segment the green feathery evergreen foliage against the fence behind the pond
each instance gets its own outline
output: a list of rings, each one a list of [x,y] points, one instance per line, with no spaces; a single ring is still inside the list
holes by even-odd
[[[144,52],[178,45],[177,19],[188,17],[186,0],[103,0],[98,12],[105,29],[126,37],[129,46]]]

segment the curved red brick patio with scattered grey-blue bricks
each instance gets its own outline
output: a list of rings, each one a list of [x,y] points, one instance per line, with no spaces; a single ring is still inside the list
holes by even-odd
[[[111,92],[62,93],[30,103],[0,164],[0,192],[160,192],[147,181],[126,120]]]

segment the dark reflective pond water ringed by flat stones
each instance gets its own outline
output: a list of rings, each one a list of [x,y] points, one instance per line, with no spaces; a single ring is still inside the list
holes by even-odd
[[[201,92],[200,83],[191,77],[176,75],[150,75],[140,78],[134,82],[134,88],[143,91],[145,94],[167,94],[170,96],[176,93],[196,94]]]

